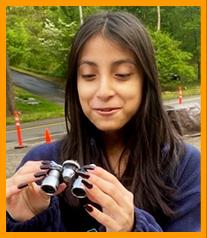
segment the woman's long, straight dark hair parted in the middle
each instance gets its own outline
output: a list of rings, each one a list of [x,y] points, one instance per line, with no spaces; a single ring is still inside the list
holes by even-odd
[[[75,36],[65,94],[67,136],[62,141],[60,162],[74,159],[81,165],[95,163],[114,173],[105,156],[100,132],[84,115],[77,92],[79,53],[86,41],[98,33],[131,50],[143,71],[141,105],[125,125],[125,151],[129,152],[129,158],[119,179],[134,194],[137,207],[154,215],[162,212],[171,217],[176,191],[173,176],[176,162],[183,153],[182,141],[162,105],[151,40],[140,21],[129,13],[92,15]]]

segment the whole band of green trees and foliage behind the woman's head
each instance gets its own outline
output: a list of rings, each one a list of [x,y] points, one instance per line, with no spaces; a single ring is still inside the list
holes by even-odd
[[[83,17],[102,10],[124,10],[150,29],[158,60],[162,88],[174,89],[172,73],[182,84],[200,80],[200,8],[160,7],[161,31],[157,32],[157,7],[82,7]],[[179,22],[179,24],[178,24]],[[65,77],[67,55],[80,25],[79,8],[7,7],[7,51],[11,66],[53,77]]]

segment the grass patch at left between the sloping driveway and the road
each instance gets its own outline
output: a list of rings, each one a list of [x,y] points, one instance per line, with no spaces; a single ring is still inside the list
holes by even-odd
[[[26,90],[18,87],[14,87],[16,100],[16,111],[21,113],[21,122],[36,121],[48,118],[56,118],[64,116],[63,106],[56,103],[49,102],[40,96],[36,96]],[[28,105],[25,100],[28,98],[34,98],[39,104]],[[13,117],[6,118],[7,125],[14,124]]]

